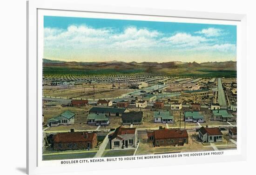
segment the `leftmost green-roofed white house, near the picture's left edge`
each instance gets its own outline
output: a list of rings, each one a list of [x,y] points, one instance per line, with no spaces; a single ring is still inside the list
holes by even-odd
[[[72,125],[74,124],[74,116],[74,113],[66,111],[57,117],[48,119],[47,126]]]

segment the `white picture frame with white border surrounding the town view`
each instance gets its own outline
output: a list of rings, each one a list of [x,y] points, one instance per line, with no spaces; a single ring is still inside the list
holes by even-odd
[[[238,128],[240,147],[236,152],[225,151],[222,156],[195,156],[182,157],[174,159],[148,159],[127,161],[125,164],[120,161],[116,162],[95,162],[85,166],[85,164],[76,165],[56,165],[56,166],[38,166],[38,128],[40,116],[39,110],[39,93],[40,84],[38,75],[41,75],[38,61],[38,11],[59,10],[75,11],[75,12],[100,12],[106,14],[129,14],[154,17],[175,17],[186,19],[209,19],[219,21],[236,21],[239,23],[240,29],[237,32],[237,99],[239,109],[237,116],[242,116],[239,121]],[[246,159],[246,15],[244,14],[229,14],[215,12],[193,12],[193,11],[177,11],[166,9],[148,9],[135,8],[125,6],[98,6],[88,5],[82,0],[29,0],[27,1],[27,174],[42,174],[42,173],[61,173],[93,170],[99,165],[101,169],[121,169],[121,168],[138,168],[149,166],[170,166],[189,163],[205,163],[205,162],[228,162],[242,161]],[[167,161],[168,160],[168,161]],[[113,166],[115,165],[115,166]]]

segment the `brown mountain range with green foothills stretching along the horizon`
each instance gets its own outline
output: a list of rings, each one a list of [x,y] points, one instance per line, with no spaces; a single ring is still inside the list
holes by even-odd
[[[236,75],[236,62],[65,62],[43,59],[44,74]],[[217,77],[217,76],[216,76]]]

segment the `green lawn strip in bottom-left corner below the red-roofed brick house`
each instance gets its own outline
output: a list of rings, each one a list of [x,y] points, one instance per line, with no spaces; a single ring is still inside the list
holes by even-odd
[[[62,159],[80,159],[80,158],[91,158],[94,157],[95,152],[84,152],[84,153],[73,153],[73,154],[55,154],[45,155],[43,160],[62,160]]]

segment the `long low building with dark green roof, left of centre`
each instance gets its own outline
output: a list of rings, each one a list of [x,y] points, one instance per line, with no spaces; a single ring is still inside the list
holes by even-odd
[[[123,113],[128,113],[127,108],[121,107],[92,107],[89,113],[105,113],[107,116],[121,116]]]

